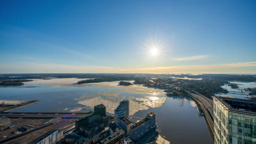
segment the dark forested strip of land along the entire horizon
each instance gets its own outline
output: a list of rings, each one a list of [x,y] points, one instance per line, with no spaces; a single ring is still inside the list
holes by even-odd
[[[90,79],[96,77],[144,77],[144,78],[161,78],[170,77],[188,77],[193,79],[214,79],[225,81],[256,82],[256,75],[235,75],[235,74],[0,74],[0,80],[16,79],[45,79],[48,77]]]

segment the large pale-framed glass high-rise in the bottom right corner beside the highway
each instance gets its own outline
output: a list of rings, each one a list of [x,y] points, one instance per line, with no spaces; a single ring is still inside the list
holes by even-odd
[[[256,143],[256,100],[213,97],[214,143]]]

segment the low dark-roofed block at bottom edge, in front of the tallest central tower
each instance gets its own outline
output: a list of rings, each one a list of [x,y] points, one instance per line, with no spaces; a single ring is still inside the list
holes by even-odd
[[[125,139],[125,131],[116,128],[112,135],[107,136],[100,141],[101,144],[123,144]]]

